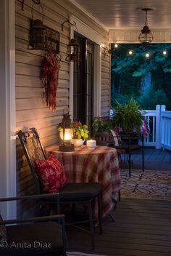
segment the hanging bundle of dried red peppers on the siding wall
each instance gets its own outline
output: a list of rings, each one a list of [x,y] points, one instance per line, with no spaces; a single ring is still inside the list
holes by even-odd
[[[56,110],[57,82],[59,62],[53,53],[48,53],[43,58],[41,79],[46,93],[46,105],[52,111]]]

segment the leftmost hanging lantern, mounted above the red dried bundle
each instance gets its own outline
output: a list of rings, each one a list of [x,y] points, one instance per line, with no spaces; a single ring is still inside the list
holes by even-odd
[[[36,3],[35,3],[36,4]],[[34,4],[33,4],[34,6]],[[46,47],[46,26],[43,25],[43,7],[39,6],[42,10],[42,19],[33,19],[33,6],[31,8],[32,20],[30,20],[29,44],[28,49],[45,49]]]

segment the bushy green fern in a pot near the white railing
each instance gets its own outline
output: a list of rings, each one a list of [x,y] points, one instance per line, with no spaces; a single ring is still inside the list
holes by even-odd
[[[139,110],[140,106],[131,98],[127,104],[117,102],[114,108],[113,124],[115,128],[123,130],[123,132],[139,131],[143,114]]]

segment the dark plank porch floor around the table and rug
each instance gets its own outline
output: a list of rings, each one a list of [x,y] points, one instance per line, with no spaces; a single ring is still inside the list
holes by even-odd
[[[141,169],[141,153],[133,154],[133,169]],[[146,148],[145,169],[171,171],[171,152]],[[109,216],[103,220],[102,235],[96,228],[94,251],[88,233],[70,227],[67,249],[108,256],[171,255],[171,201],[122,199],[114,218],[115,223]]]

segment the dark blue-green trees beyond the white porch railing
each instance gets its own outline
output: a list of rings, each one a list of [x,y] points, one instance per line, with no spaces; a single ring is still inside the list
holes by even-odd
[[[128,55],[133,49],[133,55]],[[167,55],[163,55],[163,50]],[[149,52],[150,57],[145,54]],[[143,109],[155,109],[157,104],[167,105],[171,110],[171,44],[122,44],[112,48],[112,90],[111,105],[115,100],[122,104],[135,98]],[[143,79],[151,73],[151,88]]]

